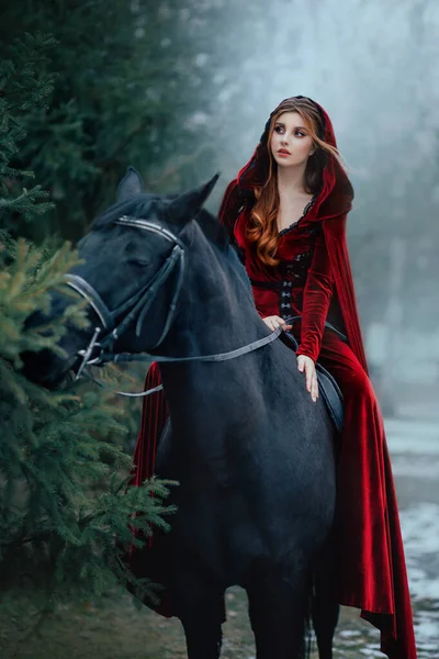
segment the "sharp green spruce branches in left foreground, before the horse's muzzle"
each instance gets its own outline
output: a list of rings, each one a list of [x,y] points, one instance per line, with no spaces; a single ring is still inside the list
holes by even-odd
[[[66,288],[63,276],[77,255],[68,243],[36,247],[8,232],[15,221],[38,222],[48,208],[38,186],[13,196],[18,181],[33,175],[10,159],[25,139],[27,111],[43,108],[56,83],[38,68],[54,47],[50,37],[25,35],[0,69],[0,583],[3,594],[32,588],[42,611],[127,582],[140,597],[154,597],[153,584],[127,572],[124,551],[144,541],[131,528],[145,538],[151,525],[168,528],[162,516],[172,512],[164,503],[169,483],[127,488],[131,457],[119,445],[126,427],[106,390],[70,381],[47,391],[21,372],[24,351],[59,351],[67,322],[88,323],[83,303],[71,297],[63,317],[26,324],[49,309],[50,291]]]

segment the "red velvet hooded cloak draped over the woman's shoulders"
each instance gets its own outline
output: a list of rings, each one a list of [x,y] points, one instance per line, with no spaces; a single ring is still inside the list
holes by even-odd
[[[314,104],[323,121],[323,139],[337,147],[328,114],[318,103]],[[226,188],[219,219],[230,235],[243,201],[248,201],[249,197],[255,199],[252,188],[268,178],[271,116],[250,160]],[[334,156],[328,156],[323,185],[306,221],[322,223],[334,281],[330,306],[342,321],[344,326],[339,328],[346,333],[348,346],[368,373],[346,238],[347,214],[352,199],[353,189],[345,170]],[[323,327],[322,324],[322,333]],[[341,342],[338,349],[341,360]],[[327,368],[330,370],[329,366]],[[340,604],[361,608],[361,616],[380,628],[381,649],[391,659],[415,659],[412,607],[393,476],[383,421],[369,381],[362,396],[373,401],[363,406],[361,401],[358,402],[356,416],[361,417],[361,437],[353,436],[350,428],[345,427],[342,439],[346,442],[348,437],[349,446],[342,447],[338,469],[338,498],[341,500],[336,518],[336,541],[340,548],[338,597]],[[358,432],[358,426],[353,431]],[[347,518],[344,518],[345,513]]]

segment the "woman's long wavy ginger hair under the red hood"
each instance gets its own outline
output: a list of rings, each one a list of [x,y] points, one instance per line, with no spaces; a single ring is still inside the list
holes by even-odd
[[[254,188],[255,203],[251,209],[247,235],[250,243],[256,243],[256,250],[261,263],[266,266],[277,266],[279,259],[273,257],[278,248],[278,165],[272,156],[270,144],[275,122],[283,112],[299,112],[305,122],[309,135],[313,138],[315,152],[309,156],[305,169],[305,190],[309,194],[319,191],[323,181],[323,171],[328,157],[334,157],[345,169],[338,149],[323,139],[325,133],[320,113],[317,107],[307,98],[285,99],[271,113],[271,121],[267,137],[267,150],[269,154],[269,171],[263,185]]]

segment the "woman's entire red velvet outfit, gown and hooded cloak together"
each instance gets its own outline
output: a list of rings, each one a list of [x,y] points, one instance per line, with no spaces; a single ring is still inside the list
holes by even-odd
[[[325,110],[315,103],[324,139],[337,146]],[[268,176],[268,127],[247,165],[225,191],[219,220],[236,242],[252,281],[256,306],[266,315],[302,315],[294,326],[299,353],[318,360],[336,378],[345,400],[345,427],[338,461],[336,540],[338,601],[362,610],[381,630],[381,649],[390,659],[415,659],[410,600],[398,511],[383,420],[368,377],[346,242],[353,190],[334,157],[327,159],[322,188],[300,221],[281,232],[278,267],[263,271],[246,238],[252,188]],[[325,328],[329,321],[346,335]],[[153,365],[146,386],[159,381]],[[162,395],[146,399],[134,455],[140,484],[154,470],[156,438],[166,418]],[[139,574],[140,576],[140,574]],[[167,611],[160,611],[165,615]],[[169,610],[168,610],[169,612]]]

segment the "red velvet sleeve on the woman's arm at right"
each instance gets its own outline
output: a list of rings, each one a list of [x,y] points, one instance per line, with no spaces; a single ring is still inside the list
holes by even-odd
[[[322,231],[315,242],[313,260],[303,291],[301,344],[297,348],[297,355],[306,355],[314,361],[320,351],[333,288],[329,255]]]

